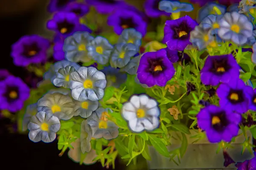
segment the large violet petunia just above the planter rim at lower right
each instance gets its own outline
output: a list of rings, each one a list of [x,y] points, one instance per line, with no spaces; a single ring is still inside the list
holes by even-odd
[[[211,143],[230,142],[238,135],[241,115],[230,110],[224,110],[215,105],[209,105],[197,114],[198,126],[206,131]]]

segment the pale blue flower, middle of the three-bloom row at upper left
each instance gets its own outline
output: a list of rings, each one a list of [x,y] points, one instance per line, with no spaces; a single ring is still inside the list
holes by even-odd
[[[111,55],[113,46],[104,37],[96,37],[87,45],[88,56],[99,62],[107,64]]]

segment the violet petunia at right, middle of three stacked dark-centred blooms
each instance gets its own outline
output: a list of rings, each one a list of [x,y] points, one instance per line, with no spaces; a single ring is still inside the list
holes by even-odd
[[[222,108],[244,113],[248,111],[249,96],[246,85],[241,79],[232,79],[229,83],[223,83],[217,88],[217,95],[220,98],[219,104]]]

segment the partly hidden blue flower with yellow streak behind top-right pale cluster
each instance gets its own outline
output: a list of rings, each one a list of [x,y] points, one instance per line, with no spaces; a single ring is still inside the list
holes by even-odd
[[[200,23],[209,14],[223,15],[225,12],[226,12],[226,6],[223,6],[214,2],[207,3],[205,6],[199,9],[197,20]]]

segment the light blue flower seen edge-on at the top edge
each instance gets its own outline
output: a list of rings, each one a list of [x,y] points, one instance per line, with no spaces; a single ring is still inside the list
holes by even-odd
[[[167,13],[177,13],[177,12],[190,12],[193,11],[193,6],[189,3],[180,3],[178,1],[162,0],[159,3],[159,9]]]

